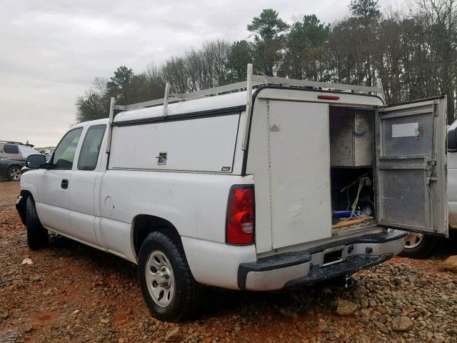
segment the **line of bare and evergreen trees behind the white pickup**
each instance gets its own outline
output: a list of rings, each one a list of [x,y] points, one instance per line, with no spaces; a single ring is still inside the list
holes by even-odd
[[[78,121],[109,115],[118,104],[158,99],[246,80],[255,74],[372,86],[381,79],[393,104],[446,94],[448,122],[457,93],[457,0],[409,0],[408,9],[381,12],[377,0],[352,0],[351,14],[334,24],[314,14],[288,23],[264,9],[248,24],[248,39],[207,41],[199,49],[151,63],[139,74],[120,66],[110,79],[96,78],[76,99]]]

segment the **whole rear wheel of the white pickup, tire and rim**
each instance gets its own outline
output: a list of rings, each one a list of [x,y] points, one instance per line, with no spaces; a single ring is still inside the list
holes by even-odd
[[[149,312],[169,322],[189,319],[199,307],[200,285],[195,281],[186,256],[161,232],[152,232],[139,252],[139,282]]]

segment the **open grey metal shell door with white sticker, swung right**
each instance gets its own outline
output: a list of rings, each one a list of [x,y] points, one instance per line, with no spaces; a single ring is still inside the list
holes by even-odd
[[[447,235],[446,97],[385,106],[376,131],[378,224]]]

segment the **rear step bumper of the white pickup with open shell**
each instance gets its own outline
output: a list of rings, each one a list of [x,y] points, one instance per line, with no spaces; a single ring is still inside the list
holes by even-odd
[[[238,267],[238,287],[268,291],[351,275],[399,254],[404,247],[404,237],[406,232],[398,230],[368,234],[242,263]]]

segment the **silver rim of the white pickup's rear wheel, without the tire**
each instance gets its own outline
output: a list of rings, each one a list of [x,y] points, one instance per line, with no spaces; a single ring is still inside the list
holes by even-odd
[[[167,307],[174,299],[175,282],[173,267],[160,250],[149,254],[144,270],[151,298],[159,307]]]

